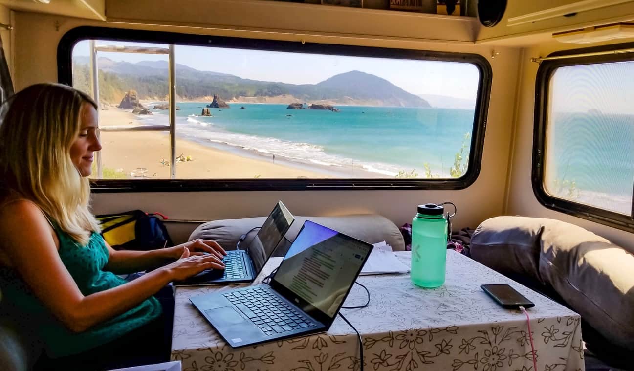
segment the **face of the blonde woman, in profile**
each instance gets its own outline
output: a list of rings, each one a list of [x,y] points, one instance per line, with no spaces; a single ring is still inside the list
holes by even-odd
[[[70,159],[81,176],[89,176],[93,172],[93,153],[101,150],[97,138],[97,111],[90,103],[84,103],[80,117],[79,133],[70,146]]]

